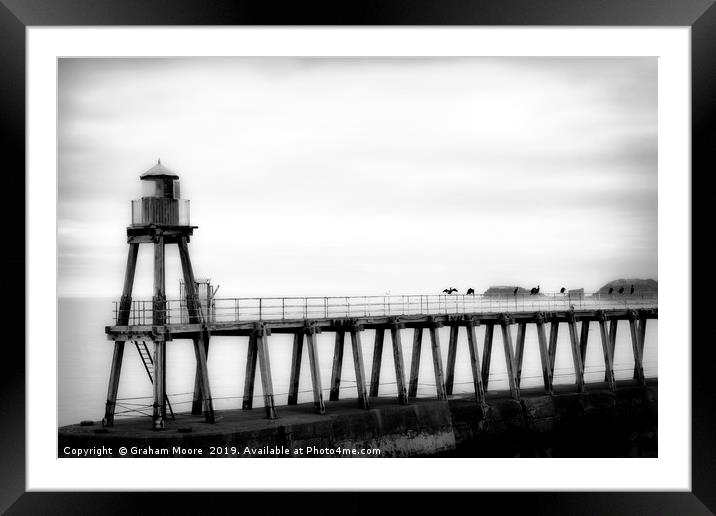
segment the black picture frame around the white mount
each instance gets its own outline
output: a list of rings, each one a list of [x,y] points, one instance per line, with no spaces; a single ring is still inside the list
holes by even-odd
[[[370,0],[344,2],[248,2],[231,0],[0,0],[0,127],[2,168],[6,192],[24,198],[25,170],[25,30],[32,26],[87,25],[570,25],[570,26],[688,26],[691,27],[692,71],[692,192],[714,170],[716,130],[716,7],[713,0]],[[696,188],[694,188],[696,186]],[[23,192],[23,196],[19,192]],[[15,210],[14,213],[24,213]],[[699,216],[701,215],[701,216]],[[8,271],[25,264],[24,224],[6,223]],[[693,211],[692,234],[709,235],[709,218]],[[7,221],[6,221],[7,222]],[[699,231],[699,229],[701,231]],[[696,241],[694,243],[697,243]],[[693,253],[693,250],[691,251]],[[694,255],[692,255],[694,256]],[[703,273],[703,274],[702,274]],[[19,281],[19,275],[15,281]],[[708,277],[698,263],[692,277]],[[23,285],[24,286],[24,285]],[[17,289],[20,289],[20,285]],[[15,290],[20,291],[20,290]],[[24,291],[24,290],[23,290]],[[700,321],[708,305],[684,299],[692,306],[692,319]],[[11,303],[24,307],[20,303]],[[16,310],[19,311],[18,308]],[[24,308],[22,309],[24,320]],[[20,314],[11,313],[12,320]],[[6,316],[8,317],[8,316]],[[685,328],[692,322],[684,321]],[[24,327],[23,325],[18,325]],[[712,369],[714,346],[692,332],[692,490],[690,492],[590,492],[590,493],[480,493],[479,506],[498,503],[510,512],[523,510],[550,514],[709,514],[716,512],[716,389]],[[11,338],[7,338],[7,337]],[[24,342],[24,330],[23,330]],[[47,343],[52,346],[52,343]],[[664,343],[663,345],[683,343]],[[206,495],[188,498],[184,493],[26,493],[25,492],[25,349],[14,334],[6,333],[0,359],[0,510],[8,514],[110,514],[146,509],[158,503],[165,512],[183,513],[206,507]],[[668,412],[668,407],[663,409]],[[54,425],[54,421],[47,424]],[[226,502],[228,494],[213,493],[211,505]],[[261,504],[261,494],[241,494],[243,507]],[[266,494],[264,493],[265,497]],[[374,497],[352,493],[335,500],[335,494],[320,498],[312,512],[364,513],[372,510]],[[293,493],[292,506],[302,505],[306,493]],[[203,500],[202,500],[203,499]],[[276,498],[271,495],[275,508]],[[309,502],[308,499],[305,503]],[[418,493],[401,503],[424,506]],[[452,502],[451,502],[452,503]],[[462,503],[462,502],[456,502]],[[340,504],[340,505],[339,505]],[[342,510],[345,507],[345,510]],[[404,510],[410,510],[404,505]],[[323,508],[323,510],[322,510]],[[142,511],[143,512],[143,511]]]

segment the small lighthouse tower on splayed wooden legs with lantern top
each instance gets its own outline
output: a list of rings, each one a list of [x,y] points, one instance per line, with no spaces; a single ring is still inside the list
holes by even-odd
[[[165,294],[164,249],[167,244],[179,247],[182,273],[184,277],[183,294],[189,316],[189,324],[196,328],[191,333],[196,355],[196,393],[197,405],[201,407],[204,419],[214,422],[214,409],[209,388],[209,376],[206,367],[206,344],[209,341],[206,321],[196,290],[196,281],[189,259],[189,239],[196,228],[189,222],[189,200],[179,197],[179,176],[170,171],[161,161],[140,176],[142,197],[132,201],[132,223],[127,227],[129,255],[124,276],[124,289],[119,303],[117,325],[127,326],[132,309],[132,288],[137,254],[140,244],[152,244],[154,247],[154,290],[152,295],[152,320],[146,335],[154,342],[154,374],[152,378],[154,403],[152,426],[162,430],[166,421],[166,331],[168,311]],[[119,377],[124,355],[124,341],[115,341],[112,368],[107,390],[107,404],[102,423],[114,424],[114,412],[117,403]]]

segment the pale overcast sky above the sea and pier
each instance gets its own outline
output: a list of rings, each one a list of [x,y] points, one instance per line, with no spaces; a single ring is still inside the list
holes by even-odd
[[[158,157],[219,297],[658,279],[656,58],[61,59],[58,145],[60,296],[119,297]]]

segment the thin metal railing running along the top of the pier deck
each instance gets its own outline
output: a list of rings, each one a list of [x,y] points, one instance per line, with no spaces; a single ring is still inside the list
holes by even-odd
[[[166,324],[186,324],[185,299],[165,301]],[[510,313],[585,309],[657,308],[656,294],[517,294],[390,295],[346,297],[215,298],[201,306],[207,322],[281,321],[295,319],[381,317],[428,314]],[[128,325],[151,325],[156,305],[134,300]],[[120,301],[114,303],[119,321]],[[118,324],[118,322],[117,322]]]

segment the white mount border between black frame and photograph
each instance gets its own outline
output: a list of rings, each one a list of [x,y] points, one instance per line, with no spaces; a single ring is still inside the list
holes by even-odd
[[[690,29],[28,28],[27,489],[690,490]],[[57,459],[60,56],[659,56],[658,459]],[[668,410],[665,410],[668,408]]]

